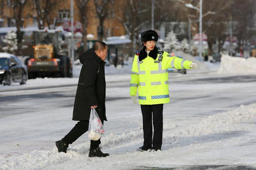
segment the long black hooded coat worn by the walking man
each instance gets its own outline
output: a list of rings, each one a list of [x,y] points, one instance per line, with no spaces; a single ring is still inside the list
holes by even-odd
[[[80,63],[83,64],[76,90],[73,119],[89,120],[91,106],[97,105],[96,111],[103,122],[106,118],[106,81],[104,66],[93,49],[89,49],[79,56]]]

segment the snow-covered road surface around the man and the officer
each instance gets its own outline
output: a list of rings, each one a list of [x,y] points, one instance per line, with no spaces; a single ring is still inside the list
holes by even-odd
[[[239,165],[256,167],[256,83],[250,80],[240,82],[240,79],[233,81],[236,75],[241,75],[241,79],[245,73],[252,79],[256,75],[244,71],[247,67],[241,67],[239,73],[225,71],[223,67],[231,67],[240,58],[224,59],[218,73],[218,64],[199,61],[193,62],[199,63],[200,71],[189,70],[187,75],[170,73],[171,102],[164,105],[160,152],[136,151],[143,143],[142,116],[139,105],[133,104],[129,97],[130,68],[127,66],[119,71],[109,68],[111,74],[106,75],[106,97],[119,98],[106,102],[108,121],[104,124],[106,134],[100,146],[103,152],[110,153],[109,157],[88,157],[87,133],[70,145],[66,154],[58,153],[54,141],[62,138],[76,123],[71,120],[73,107],[57,108],[54,103],[52,107],[43,107],[44,100],[50,99],[38,98],[39,111],[27,108],[27,113],[0,114],[0,169],[186,169],[194,165],[223,165],[224,169]],[[242,64],[247,60],[239,62]],[[114,69],[118,74],[112,74]],[[232,81],[225,78],[232,78]],[[209,79],[216,81],[208,83]],[[22,86],[1,86],[0,99],[24,95],[29,100],[30,93],[52,92],[58,86],[62,86],[59,90],[75,92],[77,82],[78,78],[28,80]],[[28,90],[30,88],[33,92]],[[29,106],[26,100],[18,99],[10,106],[15,108],[18,104]]]

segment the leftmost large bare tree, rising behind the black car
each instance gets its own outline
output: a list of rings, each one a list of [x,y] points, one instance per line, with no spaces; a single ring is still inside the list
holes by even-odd
[[[22,46],[22,32],[21,28],[23,27],[23,10],[24,6],[26,5],[27,0],[10,0],[11,3],[11,8],[12,8],[12,14],[15,19],[15,24],[16,24],[16,34],[17,34],[17,46],[18,46],[18,55],[20,55]]]

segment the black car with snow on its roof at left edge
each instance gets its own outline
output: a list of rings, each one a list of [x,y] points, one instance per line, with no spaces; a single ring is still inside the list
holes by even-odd
[[[0,84],[16,82],[22,85],[26,81],[27,67],[15,55],[0,52]]]

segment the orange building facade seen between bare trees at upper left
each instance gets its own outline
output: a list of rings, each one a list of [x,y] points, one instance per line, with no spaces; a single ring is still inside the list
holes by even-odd
[[[65,24],[70,23],[70,0],[55,0],[54,6],[49,13],[48,20],[50,26],[58,28],[65,27]],[[73,0],[74,3],[74,21],[81,23],[81,15],[79,12],[77,0]],[[104,21],[104,37],[121,36],[125,34],[123,24],[115,17],[118,10],[114,10],[117,6],[122,5],[122,1],[114,0],[113,3],[108,6],[108,14]],[[42,5],[43,6],[43,5]],[[41,7],[42,7],[41,6]],[[1,27],[15,27],[15,19],[13,17],[13,9],[11,8],[10,0],[0,0],[0,29]],[[94,35],[95,40],[98,39],[99,34],[99,19],[96,14],[96,8],[94,0],[89,0],[87,7],[87,34]],[[38,27],[37,10],[34,4],[34,0],[27,0],[27,3],[23,9],[23,28]],[[118,16],[121,16],[118,14]],[[83,25],[83,23],[81,23]],[[44,21],[44,26],[48,28],[48,24]],[[80,25],[78,24],[78,27]],[[84,28],[82,28],[84,29]],[[8,30],[5,29],[5,30]]]

